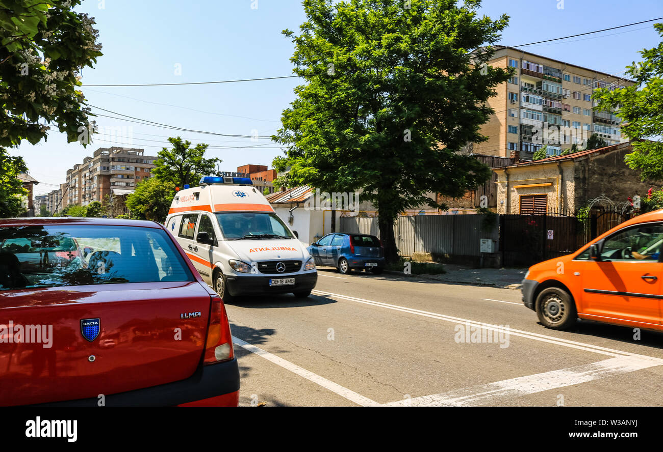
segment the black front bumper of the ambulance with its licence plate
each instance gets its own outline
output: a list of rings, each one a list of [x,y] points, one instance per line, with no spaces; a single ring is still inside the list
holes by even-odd
[[[270,286],[271,279],[294,278],[294,285]],[[228,291],[233,296],[263,295],[310,291],[316,287],[318,271],[272,276],[227,276]]]

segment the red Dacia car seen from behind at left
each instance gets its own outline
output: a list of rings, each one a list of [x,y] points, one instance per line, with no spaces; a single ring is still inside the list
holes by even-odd
[[[223,301],[156,222],[0,220],[0,406],[237,406]]]

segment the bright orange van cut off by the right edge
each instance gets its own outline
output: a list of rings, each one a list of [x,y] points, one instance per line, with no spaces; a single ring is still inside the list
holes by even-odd
[[[578,318],[663,330],[663,210],[631,218],[575,253],[532,265],[522,302],[544,326]]]

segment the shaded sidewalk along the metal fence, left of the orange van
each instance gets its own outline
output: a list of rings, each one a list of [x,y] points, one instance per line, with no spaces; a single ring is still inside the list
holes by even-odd
[[[465,265],[444,264],[444,275],[417,275],[435,281],[469,284],[475,286],[501,287],[502,289],[520,290],[526,268],[477,269]],[[389,272],[391,273],[391,272]]]

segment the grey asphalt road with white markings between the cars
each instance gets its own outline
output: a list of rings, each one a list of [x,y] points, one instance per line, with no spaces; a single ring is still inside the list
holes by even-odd
[[[660,406],[663,334],[548,330],[520,291],[318,269],[227,305],[242,406]]]

